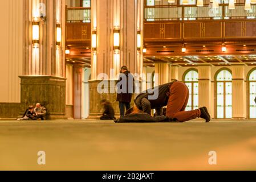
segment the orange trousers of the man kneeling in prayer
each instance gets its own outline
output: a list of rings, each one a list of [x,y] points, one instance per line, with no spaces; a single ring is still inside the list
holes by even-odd
[[[200,109],[185,111],[189,100],[189,89],[183,82],[177,81],[170,85],[169,100],[166,109],[166,116],[176,119],[178,122],[185,122],[199,118]]]

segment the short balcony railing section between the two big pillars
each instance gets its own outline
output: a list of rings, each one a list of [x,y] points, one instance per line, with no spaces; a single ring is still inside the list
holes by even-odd
[[[68,7],[66,9],[67,23],[90,23],[91,8],[89,7]]]

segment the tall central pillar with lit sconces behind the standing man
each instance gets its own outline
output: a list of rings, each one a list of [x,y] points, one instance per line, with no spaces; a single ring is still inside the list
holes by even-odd
[[[140,74],[143,70],[143,0],[92,0],[91,9],[90,116],[95,117],[100,114],[99,102],[103,98],[108,98],[116,113],[119,113],[116,93],[107,93],[107,90],[115,90],[115,80],[121,66],[126,65],[133,74]],[[140,48],[137,48],[137,34],[141,35]],[[97,85],[103,78],[109,82],[109,86],[105,93],[101,94]]]

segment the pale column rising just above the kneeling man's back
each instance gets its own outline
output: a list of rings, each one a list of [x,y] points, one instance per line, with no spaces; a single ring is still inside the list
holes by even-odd
[[[162,85],[172,81],[171,66],[169,63],[155,64],[155,79],[155,85]]]

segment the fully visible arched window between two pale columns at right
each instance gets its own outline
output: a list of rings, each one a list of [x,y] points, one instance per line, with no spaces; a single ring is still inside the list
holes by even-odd
[[[227,69],[216,77],[217,118],[232,118],[232,74]]]

